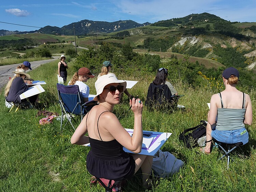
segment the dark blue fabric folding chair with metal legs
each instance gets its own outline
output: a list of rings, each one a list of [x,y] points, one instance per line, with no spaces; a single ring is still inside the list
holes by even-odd
[[[79,86],[78,85],[69,85],[65,86],[62,84],[57,83],[57,90],[58,90],[58,97],[59,97],[59,104],[61,108],[61,120],[60,120],[60,132],[63,131],[66,127],[67,123],[70,122],[73,129],[75,130],[71,118],[72,115],[81,116],[81,121],[83,116],[88,113],[89,109],[87,109],[87,105],[95,101],[88,101],[83,103],[83,100],[80,95]],[[63,116],[66,114],[67,122],[62,128]]]

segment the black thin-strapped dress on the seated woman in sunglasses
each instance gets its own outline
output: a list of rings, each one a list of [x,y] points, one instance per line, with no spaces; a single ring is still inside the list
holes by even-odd
[[[134,175],[135,161],[123,150],[123,146],[116,139],[112,141],[102,141],[101,139],[100,141],[89,137],[89,142],[91,150],[87,155],[86,164],[91,175],[112,180],[129,179]]]

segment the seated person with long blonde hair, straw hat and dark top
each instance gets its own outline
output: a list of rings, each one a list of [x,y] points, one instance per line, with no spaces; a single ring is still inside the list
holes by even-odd
[[[30,79],[30,75],[25,72],[25,70],[20,69],[18,71],[13,71],[16,75],[10,79],[7,83],[4,91],[4,96],[6,101],[13,103],[23,103],[26,99],[21,100],[19,95],[28,90],[28,86],[24,83],[24,79]],[[37,100],[38,94],[29,97],[29,102],[34,104]]]

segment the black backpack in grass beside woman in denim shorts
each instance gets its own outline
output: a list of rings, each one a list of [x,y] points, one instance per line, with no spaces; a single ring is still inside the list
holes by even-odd
[[[196,127],[192,127],[184,130],[180,135],[179,139],[183,141],[183,143],[188,148],[193,148],[198,146],[198,139],[206,135],[206,125],[207,121],[201,120],[200,124]],[[194,130],[194,131],[192,131]],[[187,132],[192,131],[191,133],[186,134]],[[186,135],[185,135],[186,134]]]

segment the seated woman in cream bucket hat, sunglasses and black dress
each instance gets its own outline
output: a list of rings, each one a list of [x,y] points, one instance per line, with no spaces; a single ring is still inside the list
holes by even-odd
[[[153,156],[136,154],[141,152],[143,138],[141,100],[130,100],[134,113],[134,131],[130,136],[112,113],[113,107],[120,102],[126,82],[118,80],[114,74],[106,74],[97,79],[95,88],[97,94],[94,100],[98,101],[99,105],[86,114],[71,137],[71,143],[90,143],[91,150],[87,155],[86,164],[89,173],[95,177],[129,179],[141,168],[143,184],[146,188],[150,187]],[[84,136],[86,133],[88,136]],[[124,152],[123,146],[134,153]]]

